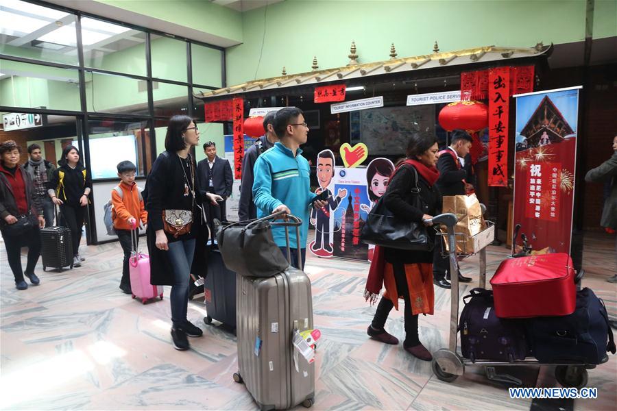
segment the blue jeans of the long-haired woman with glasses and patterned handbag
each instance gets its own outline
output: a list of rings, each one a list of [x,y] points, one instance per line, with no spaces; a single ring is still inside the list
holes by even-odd
[[[173,286],[169,297],[173,328],[184,327],[189,306],[189,281],[195,252],[195,238],[169,242],[169,262],[173,267]]]

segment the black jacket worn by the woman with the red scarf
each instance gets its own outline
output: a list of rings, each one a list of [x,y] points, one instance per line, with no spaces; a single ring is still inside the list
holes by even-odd
[[[415,194],[411,189],[415,188],[416,180],[411,166],[401,166],[390,179],[384,194],[384,201],[385,206],[397,219],[409,222],[415,221],[422,224],[422,216],[424,214],[435,216],[441,212],[441,194],[437,186],[428,186],[428,182],[420,173],[418,173],[418,180],[418,188],[420,188],[420,197],[424,202],[424,210],[419,210],[412,205]],[[426,227],[426,232],[435,239],[435,228]],[[385,247],[385,259],[391,263],[432,263],[433,251],[408,251]]]

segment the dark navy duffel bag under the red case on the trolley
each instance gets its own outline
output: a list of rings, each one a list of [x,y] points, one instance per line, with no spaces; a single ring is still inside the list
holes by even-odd
[[[577,292],[570,315],[528,319],[533,355],[540,362],[602,364],[615,353],[604,302],[590,288]]]

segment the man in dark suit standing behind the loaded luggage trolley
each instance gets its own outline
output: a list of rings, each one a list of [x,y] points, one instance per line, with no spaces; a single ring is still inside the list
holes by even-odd
[[[471,136],[464,130],[454,130],[450,136],[450,146],[439,152],[437,169],[439,179],[437,188],[441,195],[465,195],[473,189],[471,184],[466,182],[468,178],[468,168],[465,168],[465,156],[468,156],[472,146]],[[470,165],[470,164],[468,164]],[[437,242],[435,255],[433,256],[433,282],[441,288],[450,288],[450,260],[441,256],[443,242]],[[463,277],[459,272],[459,282],[470,282],[470,277]]]

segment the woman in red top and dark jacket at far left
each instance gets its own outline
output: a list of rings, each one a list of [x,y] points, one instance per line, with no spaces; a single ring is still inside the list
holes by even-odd
[[[18,290],[28,284],[40,284],[34,267],[40,257],[40,231],[45,219],[38,215],[41,205],[34,196],[34,182],[19,165],[21,149],[13,140],[0,143],[0,231],[9,266],[15,277]],[[28,262],[25,273],[21,269],[21,247],[28,247]]]

